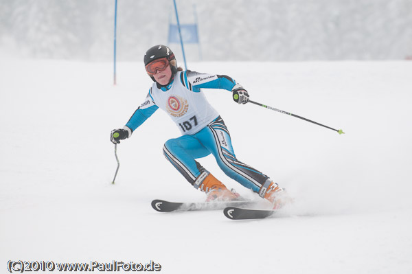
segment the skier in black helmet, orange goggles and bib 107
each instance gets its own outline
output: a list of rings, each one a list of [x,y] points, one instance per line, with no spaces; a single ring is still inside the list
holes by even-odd
[[[163,154],[194,188],[207,194],[206,201],[232,201],[239,198],[239,194],[228,190],[196,161],[212,154],[227,176],[270,201],[274,209],[282,207],[285,203],[284,190],[262,172],[238,161],[225,122],[207,102],[201,89],[231,91],[233,100],[238,104],[248,102],[248,92],[229,76],[183,71],[177,67],[172,50],[165,45],[148,49],[144,65],[154,83],[146,100],[133,113],[126,126],[112,130],[113,144],[129,138],[137,127],[160,108],[170,115],[182,133],[181,137],[165,142]]]

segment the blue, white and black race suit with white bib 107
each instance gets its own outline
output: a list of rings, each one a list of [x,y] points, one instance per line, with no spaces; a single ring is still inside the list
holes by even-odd
[[[194,187],[201,183],[196,179],[207,173],[196,159],[212,154],[227,176],[253,192],[259,192],[268,176],[236,159],[229,130],[201,91],[202,88],[231,91],[235,84],[236,81],[228,76],[178,71],[167,87],[156,82],[152,85],[146,100],[125,128],[130,131],[130,136],[160,108],[168,113],[182,133],[181,137],[165,142],[163,153]]]

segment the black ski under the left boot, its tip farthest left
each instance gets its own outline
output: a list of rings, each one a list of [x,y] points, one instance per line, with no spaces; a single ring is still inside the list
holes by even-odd
[[[175,203],[164,200],[153,200],[152,207],[157,212],[187,212],[194,210],[216,210],[225,207],[241,207],[255,205],[256,201],[230,201],[230,202],[201,202],[201,203]]]

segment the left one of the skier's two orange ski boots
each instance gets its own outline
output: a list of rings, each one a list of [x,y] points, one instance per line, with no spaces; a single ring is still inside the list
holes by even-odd
[[[202,175],[206,175],[205,179],[196,184],[197,181],[200,181],[198,179],[200,179]],[[206,202],[234,201],[240,197],[240,195],[236,193],[234,190],[228,190],[226,185],[224,185],[222,182],[216,179],[209,172],[207,172],[207,174],[201,174],[201,176],[199,176],[198,179],[196,179],[194,187],[197,186],[196,188],[199,188],[201,191],[206,192]]]

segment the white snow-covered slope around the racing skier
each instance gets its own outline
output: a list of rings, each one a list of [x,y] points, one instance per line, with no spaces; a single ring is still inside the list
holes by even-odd
[[[0,63],[0,272],[8,260],[150,262],[161,273],[411,273],[412,62],[205,62],[251,100],[205,90],[236,155],[295,198],[282,218],[160,214],[154,198],[203,201],[162,155],[165,113],[117,146],[151,85],[141,63]],[[249,190],[200,160],[229,187]]]

